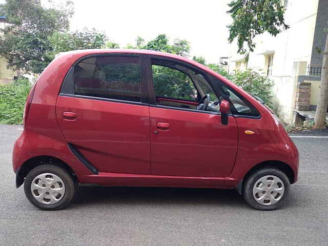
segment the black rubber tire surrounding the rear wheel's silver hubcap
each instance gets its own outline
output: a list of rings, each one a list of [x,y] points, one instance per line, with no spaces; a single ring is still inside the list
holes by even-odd
[[[57,175],[61,180],[63,180],[65,185],[65,194],[63,198],[61,198],[57,203],[55,204],[43,204],[39,201],[37,201],[31,191],[31,184],[33,179],[38,176],[39,174],[43,173],[52,173]],[[59,210],[66,207],[74,198],[74,195],[76,193],[76,184],[74,182],[73,177],[63,168],[51,165],[51,164],[45,164],[42,166],[35,167],[32,169],[28,175],[26,176],[25,182],[24,182],[24,192],[27,197],[27,199],[35,206],[36,208],[42,209],[42,210]]]

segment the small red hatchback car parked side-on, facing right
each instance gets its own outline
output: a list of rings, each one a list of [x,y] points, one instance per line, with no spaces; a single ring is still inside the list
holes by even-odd
[[[185,57],[146,50],[60,54],[34,84],[13,151],[16,187],[64,208],[78,185],[236,188],[280,206],[298,151],[275,114]]]

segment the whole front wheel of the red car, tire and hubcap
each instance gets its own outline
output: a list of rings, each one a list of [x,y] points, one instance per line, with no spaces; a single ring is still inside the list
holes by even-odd
[[[263,168],[255,171],[244,180],[242,186],[244,199],[257,210],[278,209],[289,192],[288,177],[275,168]]]

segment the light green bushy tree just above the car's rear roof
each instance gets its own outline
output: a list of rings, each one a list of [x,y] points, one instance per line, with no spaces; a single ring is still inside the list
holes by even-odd
[[[47,53],[49,59],[56,54],[70,50],[117,48],[115,43],[109,42],[107,35],[96,29],[83,29],[75,32],[55,32],[49,37],[52,50]]]

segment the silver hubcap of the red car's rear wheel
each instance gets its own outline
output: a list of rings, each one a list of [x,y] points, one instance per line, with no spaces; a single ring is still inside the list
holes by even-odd
[[[40,203],[51,205],[59,202],[65,195],[63,180],[53,173],[37,175],[31,183],[33,197]]]

